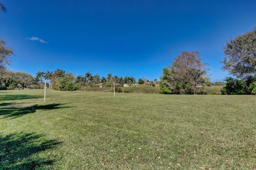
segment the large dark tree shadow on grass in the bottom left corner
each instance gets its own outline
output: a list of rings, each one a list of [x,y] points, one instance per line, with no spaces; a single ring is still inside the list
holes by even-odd
[[[47,149],[57,147],[61,142],[45,140],[44,135],[35,133],[12,133],[0,135],[0,169],[51,169],[57,160]]]

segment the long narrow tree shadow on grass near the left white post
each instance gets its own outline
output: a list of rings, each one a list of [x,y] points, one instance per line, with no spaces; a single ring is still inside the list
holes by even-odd
[[[17,118],[22,115],[35,113],[37,110],[69,108],[68,106],[61,106],[61,105],[64,105],[64,104],[54,103],[49,105],[33,105],[33,106],[27,106],[27,107],[3,107],[3,108],[0,108],[0,115],[5,115],[3,118],[6,118],[6,117]]]

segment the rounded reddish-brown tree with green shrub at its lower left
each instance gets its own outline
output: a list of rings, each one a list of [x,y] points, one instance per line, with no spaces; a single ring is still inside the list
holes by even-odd
[[[207,63],[202,63],[198,52],[182,52],[163,70],[161,92],[164,94],[197,94],[198,85],[205,83]]]

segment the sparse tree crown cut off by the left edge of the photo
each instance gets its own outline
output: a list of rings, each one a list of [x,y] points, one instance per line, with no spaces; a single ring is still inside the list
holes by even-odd
[[[0,39],[0,74],[3,73],[6,70],[6,66],[10,64],[11,55],[13,55],[12,49],[6,47],[5,41]]]

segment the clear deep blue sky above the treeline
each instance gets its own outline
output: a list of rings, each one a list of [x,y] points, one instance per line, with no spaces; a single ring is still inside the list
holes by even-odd
[[[228,75],[220,64],[226,41],[256,25],[255,0],[2,3],[0,37],[16,54],[10,69],[33,75],[64,69],[154,80],[182,51],[198,51],[219,81]]]

